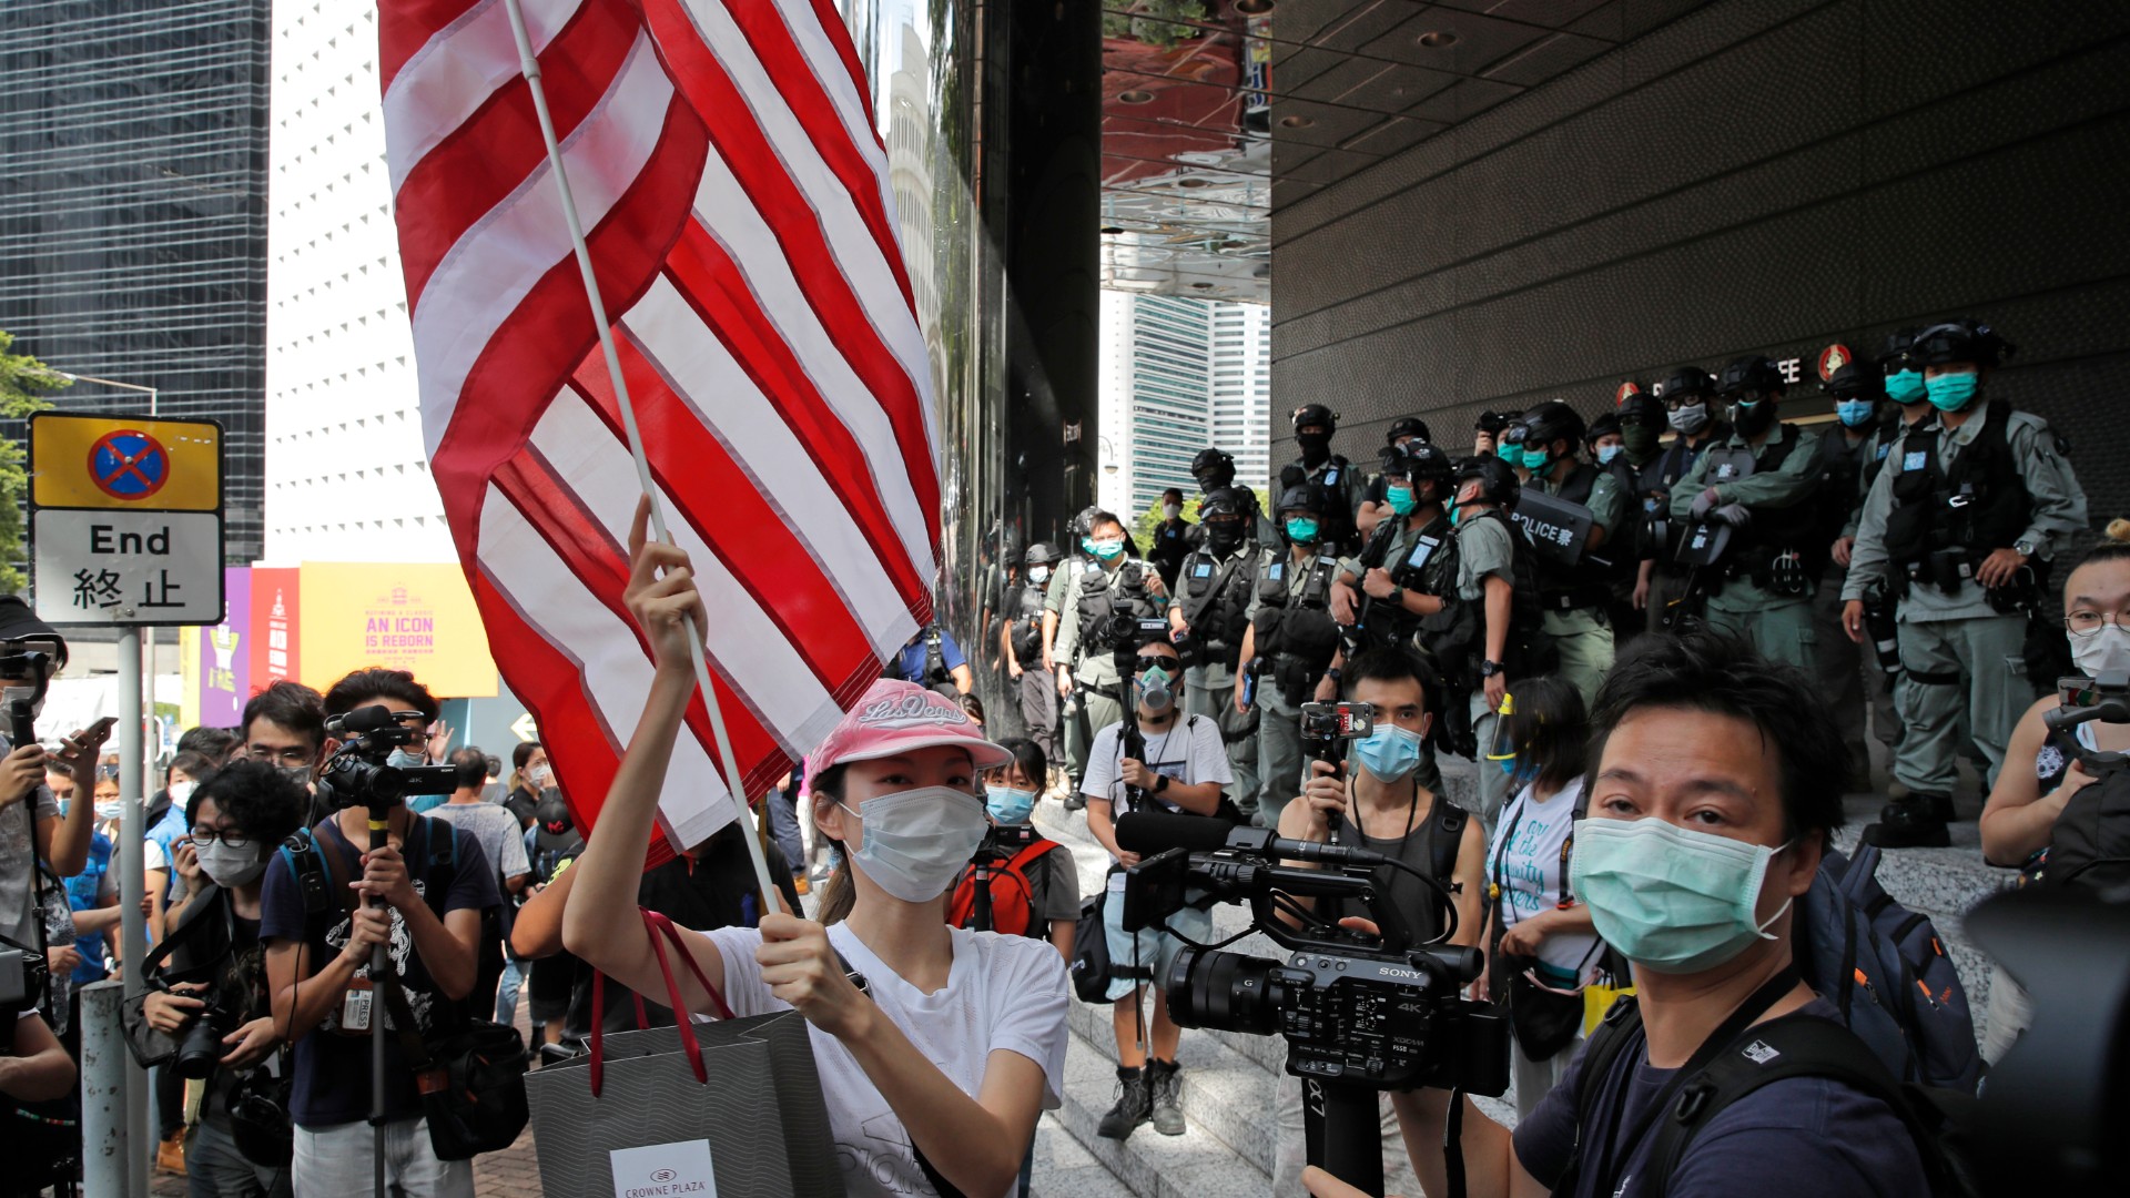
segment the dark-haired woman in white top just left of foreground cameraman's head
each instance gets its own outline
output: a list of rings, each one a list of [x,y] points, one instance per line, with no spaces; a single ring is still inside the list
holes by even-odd
[[[1487,972],[1476,987],[1508,1006],[1517,1115],[1527,1119],[1576,1055],[1583,987],[1604,942],[1568,883],[1576,823],[1589,808],[1583,695],[1561,678],[1534,678],[1519,682],[1504,708],[1512,710],[1482,767],[1508,774],[1514,795],[1487,848]]]

